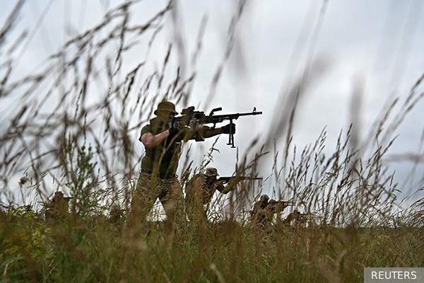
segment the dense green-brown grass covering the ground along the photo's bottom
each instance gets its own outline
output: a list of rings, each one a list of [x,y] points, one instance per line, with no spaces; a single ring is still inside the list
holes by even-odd
[[[122,239],[107,219],[2,215],[2,282],[363,282],[363,267],[423,266],[423,228],[213,224]],[[123,255],[123,250],[128,250]]]

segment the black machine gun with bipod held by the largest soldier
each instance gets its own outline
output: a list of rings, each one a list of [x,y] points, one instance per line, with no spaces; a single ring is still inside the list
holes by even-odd
[[[181,115],[174,117],[174,122],[182,122],[183,125],[188,126],[192,129],[198,129],[199,125],[213,124],[212,129],[215,129],[217,123],[225,120],[230,120],[230,134],[228,135],[228,145],[234,148],[234,134],[232,134],[232,120],[237,120],[241,116],[254,116],[262,115],[262,112],[257,112],[256,107],[253,108],[252,112],[245,113],[232,113],[225,115],[213,115],[214,112],[223,110],[223,108],[214,108],[209,115],[205,115],[204,111],[195,111],[194,106],[185,108],[182,110]],[[204,138],[196,139],[196,141],[203,141]]]

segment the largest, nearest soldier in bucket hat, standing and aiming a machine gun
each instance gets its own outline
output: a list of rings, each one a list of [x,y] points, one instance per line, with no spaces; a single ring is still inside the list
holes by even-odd
[[[136,192],[131,202],[129,224],[139,225],[146,220],[156,199],[165,209],[167,223],[173,226],[185,226],[182,187],[179,184],[177,172],[181,142],[199,137],[213,137],[218,134],[235,133],[235,125],[209,129],[190,129],[179,122],[173,122],[177,111],[174,103],[163,101],[159,103],[156,115],[150,123],[141,129],[139,140],[146,149],[141,161],[141,171],[136,186]],[[199,137],[198,137],[199,136]],[[167,225],[169,226],[169,225]]]

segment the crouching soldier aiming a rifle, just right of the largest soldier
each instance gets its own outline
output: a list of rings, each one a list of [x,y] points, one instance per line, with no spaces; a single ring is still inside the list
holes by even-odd
[[[216,190],[228,194],[238,183],[237,177],[227,180],[218,180],[218,170],[213,167],[206,168],[205,173],[199,173],[189,180],[186,187],[186,211],[189,220],[194,224],[199,221],[206,223],[208,204],[211,202]],[[228,185],[224,185],[228,183]]]

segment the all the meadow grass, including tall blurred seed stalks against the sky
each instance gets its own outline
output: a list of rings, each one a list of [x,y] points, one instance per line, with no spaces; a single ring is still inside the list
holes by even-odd
[[[230,35],[243,11],[240,3]],[[204,229],[189,226],[171,238],[154,221],[155,211],[146,233],[128,238],[123,228],[142,157],[134,137],[158,101],[187,101],[195,81],[194,72],[182,77],[179,68],[169,69],[179,54],[175,45],[158,69],[143,69],[173,2],[139,25],[129,25],[133,2],[112,8],[42,67],[15,79],[14,50],[25,36],[11,46],[6,39],[22,4],[0,33],[0,100],[6,105],[0,136],[2,282],[362,282],[363,267],[423,266],[423,200],[399,212],[398,184],[383,162],[395,130],[423,96],[417,93],[422,77],[393,122],[388,117],[401,102],[387,108],[365,146],[352,141],[353,128],[336,141],[328,141],[324,129],[300,149],[288,130],[283,156],[273,137],[264,145],[254,140],[249,154],[237,154],[243,175],[257,175],[271,156],[265,181],[274,184],[276,197],[295,200],[295,209],[307,216],[304,223],[285,225],[286,214],[268,227],[250,223],[249,209],[264,187],[246,182],[229,200],[213,200]],[[125,71],[126,54],[138,41],[146,42],[146,58]],[[231,40],[227,48],[231,52]],[[220,71],[222,66],[214,83]],[[279,119],[277,125],[293,127],[292,117]],[[328,143],[336,144],[330,156],[324,154]],[[219,154],[213,144],[198,168],[192,146],[186,145],[180,164],[183,185]],[[57,190],[73,197],[69,214],[46,218],[40,203]]]

